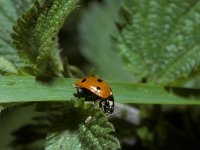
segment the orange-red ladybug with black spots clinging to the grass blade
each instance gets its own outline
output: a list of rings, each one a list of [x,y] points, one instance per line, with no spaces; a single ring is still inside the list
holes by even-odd
[[[75,83],[77,97],[85,100],[99,101],[99,107],[105,113],[113,113],[114,98],[111,88],[108,84],[97,77],[85,77]]]

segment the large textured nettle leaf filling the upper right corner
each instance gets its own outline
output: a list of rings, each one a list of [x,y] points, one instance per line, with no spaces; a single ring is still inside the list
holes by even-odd
[[[116,51],[150,82],[187,77],[200,64],[200,2],[125,0]]]

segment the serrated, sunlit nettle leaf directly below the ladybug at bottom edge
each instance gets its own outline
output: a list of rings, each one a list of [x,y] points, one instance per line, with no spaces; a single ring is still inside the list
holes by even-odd
[[[50,132],[47,136],[45,150],[120,148],[118,140],[109,135],[114,131],[113,125],[108,122],[100,109],[94,109],[92,104],[83,105],[81,101],[75,103],[74,109],[69,111],[69,115],[65,115],[65,118],[67,116],[71,118],[67,122],[68,126],[71,124],[71,129]],[[62,120],[65,124],[64,119]]]

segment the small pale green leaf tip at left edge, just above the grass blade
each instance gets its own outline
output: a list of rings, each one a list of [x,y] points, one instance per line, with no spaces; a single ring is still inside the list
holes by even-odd
[[[13,65],[11,62],[0,56],[0,73],[17,74],[18,70],[15,65]]]

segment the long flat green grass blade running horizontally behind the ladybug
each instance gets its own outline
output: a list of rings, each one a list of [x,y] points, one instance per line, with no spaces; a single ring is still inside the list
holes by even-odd
[[[36,79],[35,77],[2,76],[0,78],[0,104],[15,102],[69,101],[76,93],[75,79]],[[199,89],[162,87],[108,81],[115,102],[139,104],[200,104]],[[14,94],[10,94],[14,93]]]

